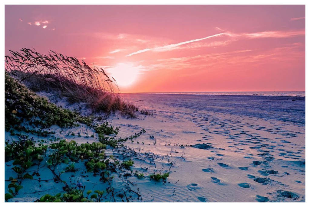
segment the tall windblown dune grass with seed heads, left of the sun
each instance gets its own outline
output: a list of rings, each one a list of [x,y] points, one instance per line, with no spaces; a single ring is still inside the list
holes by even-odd
[[[26,48],[10,52],[10,56],[5,56],[5,71],[30,90],[57,93],[72,103],[85,102],[94,111],[120,111],[127,118],[137,116],[138,107],[122,99],[116,81],[102,68],[54,51],[47,55]],[[139,112],[152,115],[146,110]]]

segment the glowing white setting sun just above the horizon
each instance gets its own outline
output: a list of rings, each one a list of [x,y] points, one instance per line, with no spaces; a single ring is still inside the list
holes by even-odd
[[[137,81],[139,68],[131,63],[117,63],[115,67],[110,67],[107,71],[116,80],[118,86],[128,87]]]

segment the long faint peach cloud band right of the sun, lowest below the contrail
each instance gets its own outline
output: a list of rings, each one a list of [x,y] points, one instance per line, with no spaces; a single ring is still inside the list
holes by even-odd
[[[292,63],[296,59],[304,58],[301,50],[302,43],[283,45],[269,50],[235,50],[222,53],[200,54],[176,58],[157,59],[155,62],[144,64],[144,71],[148,70],[183,70],[186,75],[194,73],[204,74],[206,70],[217,71],[219,68],[240,66],[240,70],[246,69],[251,64],[253,67],[266,63]],[[199,72],[200,71],[200,72]]]

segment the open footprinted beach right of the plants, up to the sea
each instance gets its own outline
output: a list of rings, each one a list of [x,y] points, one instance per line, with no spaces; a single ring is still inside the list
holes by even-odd
[[[305,201],[305,97],[125,94],[124,98],[149,106],[155,115],[113,122],[144,127],[156,144],[141,136],[139,143],[145,142],[141,149],[161,155],[174,151],[176,159],[169,179],[179,182],[166,185],[171,194],[166,200],[152,198],[149,189],[145,194],[149,199]],[[204,143],[212,147],[175,146]],[[286,198],[283,191],[299,198]]]

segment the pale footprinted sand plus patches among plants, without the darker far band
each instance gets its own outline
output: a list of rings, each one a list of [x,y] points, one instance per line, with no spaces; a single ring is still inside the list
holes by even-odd
[[[142,128],[146,130],[134,143],[128,141],[125,144],[141,156],[132,157],[135,162],[132,170],[143,172],[144,175],[153,173],[155,167],[145,161],[148,159],[145,159],[144,152],[158,155],[154,156],[158,171],[163,167],[161,172],[166,172],[171,166],[168,163],[172,162],[173,165],[166,183],[150,181],[147,177],[138,179],[135,176],[116,176],[113,187],[120,189],[128,184],[132,189],[139,188],[142,201],[146,202],[256,202],[267,199],[276,202],[305,201],[304,124],[169,106],[156,103],[155,100],[153,103],[136,98],[131,101],[152,109],[154,116],[139,115],[138,119],[125,119],[116,115],[110,117],[108,122],[121,127],[117,135],[119,137],[130,136]],[[60,104],[64,105],[65,101]],[[55,136],[68,140],[72,136],[67,136],[67,132],[72,131],[76,135],[80,132],[81,137],[75,136],[74,139],[79,143],[92,142],[97,138],[96,135],[94,138],[85,138],[86,133],[89,136],[94,133],[86,126],[62,133],[59,133],[58,127],[52,127],[51,130],[57,132]],[[7,132],[5,137],[15,139]],[[189,146],[202,143],[211,145],[212,148],[197,149]],[[179,146],[181,144],[184,148]],[[254,165],[253,161],[262,163]],[[35,168],[37,166],[29,170]],[[278,173],[269,174],[272,173],[270,170]],[[5,178],[14,174],[11,166],[6,166]],[[53,178],[48,170],[41,171],[40,174],[42,180]],[[71,174],[74,177],[70,177]],[[82,182],[86,189],[106,187],[98,181],[98,176],[93,177],[91,173],[78,171],[61,176],[65,180],[72,179],[73,183]],[[127,179],[137,185],[132,185]],[[29,187],[21,189],[11,202],[34,201],[46,193],[52,195],[62,191],[62,185],[53,181],[38,183],[25,179],[23,182],[24,186]],[[8,183],[6,181],[6,186]],[[281,195],[282,191],[292,192],[299,198],[293,200],[284,197]]]

